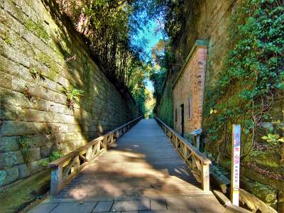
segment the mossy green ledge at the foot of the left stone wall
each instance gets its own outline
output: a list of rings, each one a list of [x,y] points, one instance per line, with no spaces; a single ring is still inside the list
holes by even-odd
[[[40,173],[18,180],[7,187],[2,187],[0,200],[5,200],[0,205],[0,212],[18,212],[26,205],[35,200],[38,195],[48,190],[50,182],[50,170],[43,170]]]

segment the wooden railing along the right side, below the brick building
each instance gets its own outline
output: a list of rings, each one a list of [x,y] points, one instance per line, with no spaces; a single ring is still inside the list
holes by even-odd
[[[209,165],[211,161],[206,158],[204,154],[197,150],[194,146],[188,143],[185,138],[182,138],[176,131],[170,128],[167,124],[161,121],[158,117],[155,117],[156,121],[163,129],[165,134],[170,138],[170,141],[175,146],[176,150],[185,160],[185,163],[192,169],[196,170],[200,175],[202,182],[202,189],[205,192],[210,190],[209,187]]]

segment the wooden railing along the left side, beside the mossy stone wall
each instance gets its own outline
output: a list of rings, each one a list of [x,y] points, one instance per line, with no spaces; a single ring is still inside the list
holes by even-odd
[[[51,168],[50,194],[58,195],[66,183],[75,177],[82,168],[93,163],[98,155],[107,151],[111,143],[117,141],[120,136],[137,124],[141,118],[142,116],[51,162],[49,164]]]

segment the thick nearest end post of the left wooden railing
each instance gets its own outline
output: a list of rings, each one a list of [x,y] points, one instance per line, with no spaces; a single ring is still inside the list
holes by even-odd
[[[62,164],[51,170],[50,195],[58,195],[62,185]]]

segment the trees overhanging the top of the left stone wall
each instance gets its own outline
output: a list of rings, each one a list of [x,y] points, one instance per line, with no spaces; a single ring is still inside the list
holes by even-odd
[[[132,64],[140,61],[140,45],[131,45],[130,35],[134,25],[133,14],[141,9],[141,1],[78,0],[58,1],[60,9],[72,20],[77,31],[88,40],[92,53],[104,66],[109,80],[124,88],[129,84]],[[131,17],[133,21],[131,21]]]

